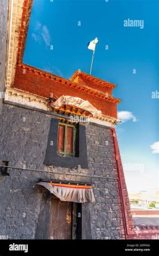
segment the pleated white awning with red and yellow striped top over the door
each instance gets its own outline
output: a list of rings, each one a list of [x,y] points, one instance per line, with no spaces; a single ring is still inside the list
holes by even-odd
[[[38,182],[36,185],[47,188],[50,193],[57,196],[61,201],[75,203],[95,202],[91,185],[61,184],[42,181]]]

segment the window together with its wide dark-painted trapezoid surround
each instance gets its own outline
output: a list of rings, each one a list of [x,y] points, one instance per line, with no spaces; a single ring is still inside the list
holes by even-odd
[[[74,138],[72,142],[74,142],[69,145],[73,150],[70,150],[71,154],[66,154],[65,151],[66,157],[62,157],[64,156],[64,148],[66,148],[66,143],[64,147],[64,134],[66,133],[65,127],[60,127],[63,125],[75,128],[75,131],[71,129],[71,131],[74,131],[74,135],[72,134]],[[60,129],[61,131],[58,132]],[[61,132],[63,132],[63,136],[61,136]],[[50,143],[50,141],[54,141],[54,143]],[[51,118],[44,164],[66,168],[75,168],[80,165],[81,168],[88,169],[86,126],[84,124],[69,125],[59,122],[57,118]]]

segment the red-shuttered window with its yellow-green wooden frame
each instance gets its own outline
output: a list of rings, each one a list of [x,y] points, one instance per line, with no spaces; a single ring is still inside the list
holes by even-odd
[[[59,123],[57,137],[57,154],[75,156],[76,126]]]

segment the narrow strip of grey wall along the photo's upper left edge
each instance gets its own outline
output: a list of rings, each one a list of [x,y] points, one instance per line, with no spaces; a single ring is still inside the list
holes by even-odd
[[[6,38],[8,20],[8,0],[1,0],[0,4],[0,113],[3,104],[5,65],[6,65]]]

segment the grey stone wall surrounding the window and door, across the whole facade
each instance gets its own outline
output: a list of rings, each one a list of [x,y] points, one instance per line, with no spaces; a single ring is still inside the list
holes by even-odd
[[[0,236],[34,239],[42,192],[33,186],[39,179],[60,179],[93,183],[96,202],[89,204],[91,219],[88,220],[91,222],[93,239],[121,238],[121,209],[115,180],[60,174],[89,173],[116,177],[112,131],[94,124],[87,125],[89,170],[46,167],[43,161],[51,118],[51,115],[38,111],[9,104],[3,106],[0,121],[0,163],[6,160],[10,166],[23,166],[46,172],[54,170],[59,174],[17,169],[10,169],[10,177],[0,174]]]

